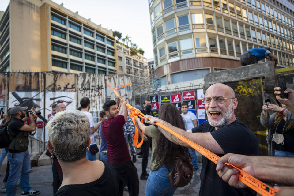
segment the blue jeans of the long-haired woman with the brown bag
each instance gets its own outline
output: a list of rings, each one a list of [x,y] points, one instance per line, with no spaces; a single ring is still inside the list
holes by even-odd
[[[171,171],[174,164],[169,165]],[[168,179],[168,170],[165,165],[161,166],[158,170],[150,171],[147,183],[145,196],[159,196],[159,195],[173,195],[177,190],[176,187],[172,187]]]

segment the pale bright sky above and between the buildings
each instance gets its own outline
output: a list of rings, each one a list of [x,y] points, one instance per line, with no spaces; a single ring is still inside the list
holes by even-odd
[[[96,23],[103,28],[128,35],[132,43],[142,48],[144,56],[153,58],[153,42],[148,0],[53,0],[72,12]],[[82,3],[81,3],[82,2]],[[0,10],[5,11],[9,0],[0,0]],[[130,44],[129,44],[130,46]]]

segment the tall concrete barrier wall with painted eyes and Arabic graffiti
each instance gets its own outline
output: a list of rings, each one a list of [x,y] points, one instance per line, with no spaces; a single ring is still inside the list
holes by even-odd
[[[0,73],[0,107],[6,112],[15,106],[27,106],[29,109],[36,105],[36,111],[41,111],[37,119],[36,133],[30,135],[30,153],[43,152],[48,139],[45,126],[51,116],[52,104],[64,103],[66,110],[76,110],[80,100],[88,97],[91,102],[90,112],[94,122],[99,121],[99,111],[106,100],[106,83],[116,87],[130,83],[126,75],[104,74],[70,74],[61,72],[13,72]],[[120,94],[132,99],[130,86],[120,89]],[[113,90],[109,89],[107,98],[114,99]],[[114,94],[114,93],[113,93]],[[32,98],[33,97],[33,98]],[[32,99],[31,99],[32,98]],[[96,132],[96,140],[100,136]],[[99,141],[97,142],[99,144]]]

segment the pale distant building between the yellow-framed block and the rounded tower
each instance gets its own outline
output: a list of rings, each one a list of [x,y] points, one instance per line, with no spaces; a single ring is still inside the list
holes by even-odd
[[[116,44],[118,74],[127,74],[132,77],[133,94],[145,93],[149,87],[149,72],[146,58],[133,48]],[[146,88],[144,88],[144,86]]]

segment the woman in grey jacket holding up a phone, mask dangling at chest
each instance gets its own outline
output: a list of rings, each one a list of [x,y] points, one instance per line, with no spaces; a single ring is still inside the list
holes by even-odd
[[[269,115],[269,110],[275,111]],[[266,141],[269,156],[294,157],[294,117],[285,104],[281,107],[266,102],[262,106],[260,123],[268,128]]]

